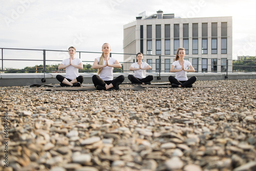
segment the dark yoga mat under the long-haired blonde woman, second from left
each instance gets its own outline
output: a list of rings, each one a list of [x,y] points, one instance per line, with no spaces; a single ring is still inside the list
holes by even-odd
[[[142,86],[136,87],[120,87],[119,90],[144,90]],[[97,90],[94,86],[87,87],[59,87],[59,88],[48,88],[46,91],[89,91],[89,90]],[[110,90],[111,91],[111,90]]]

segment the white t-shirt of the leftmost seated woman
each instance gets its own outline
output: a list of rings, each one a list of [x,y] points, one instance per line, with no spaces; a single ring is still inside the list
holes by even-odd
[[[67,58],[67,59],[64,59],[61,63],[66,66],[69,64],[69,61],[70,61],[70,58]],[[82,61],[79,58],[75,58],[72,60],[72,63],[74,65],[79,65],[79,63],[81,62]],[[66,78],[73,80],[78,76],[79,76],[78,68],[75,68],[73,66],[69,66],[66,68]]]

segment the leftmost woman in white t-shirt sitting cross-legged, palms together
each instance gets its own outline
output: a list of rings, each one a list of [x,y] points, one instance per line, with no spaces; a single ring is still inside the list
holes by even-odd
[[[60,82],[61,87],[71,86],[80,87],[83,82],[83,76],[79,76],[78,69],[82,70],[82,61],[79,58],[75,58],[76,48],[69,48],[70,58],[64,59],[58,69],[66,69],[66,77],[57,75],[56,78]]]

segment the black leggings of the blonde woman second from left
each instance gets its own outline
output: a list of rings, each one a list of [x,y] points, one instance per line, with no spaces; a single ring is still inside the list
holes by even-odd
[[[124,81],[123,75],[119,75],[118,77],[116,77],[111,81],[104,81],[98,75],[93,75],[92,78],[93,78],[94,87],[96,87],[97,85],[105,87],[105,84],[109,85],[111,83],[113,84],[114,87],[116,87],[117,85],[121,84]]]

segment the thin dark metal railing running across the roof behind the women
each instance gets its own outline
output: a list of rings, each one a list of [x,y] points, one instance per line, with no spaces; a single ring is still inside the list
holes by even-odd
[[[60,70],[47,70],[47,62],[61,62],[63,60],[63,57],[57,57],[57,58],[61,58],[61,59],[48,59],[47,58],[47,54],[49,52],[58,52],[58,53],[67,53],[67,50],[46,50],[46,49],[14,49],[14,48],[0,48],[1,49],[1,61],[2,61],[2,69],[0,70],[1,72],[10,72],[13,71],[12,69],[6,69],[4,70],[5,66],[4,66],[4,61],[34,61],[34,62],[42,62],[42,70],[15,70],[17,72],[43,72],[44,73],[44,78],[45,78],[45,73],[48,72],[59,72]],[[11,58],[5,58],[4,56],[4,51],[33,51],[33,52],[41,52],[42,56],[39,57],[39,59],[25,59],[25,58],[16,58],[14,59],[13,57]],[[86,51],[77,51],[77,53],[79,54],[79,58],[82,58],[83,54],[96,54],[97,57],[99,57],[102,52],[86,52]],[[136,58],[136,54],[126,54],[126,53],[111,53],[110,56],[118,56],[118,55],[129,55],[129,56],[133,56],[134,59]],[[156,72],[159,73],[159,76],[157,77],[158,79],[161,79],[161,73],[162,72],[166,72],[166,68],[164,68],[164,70],[162,70],[162,66],[169,66],[169,68],[167,68],[167,70],[170,69],[170,65],[172,65],[172,62],[162,62],[162,59],[170,59],[170,61],[172,61],[172,59],[175,58],[174,55],[143,55],[144,56],[144,61],[146,59],[152,59],[152,57],[154,56],[154,59],[158,60],[158,62],[147,62],[148,64],[150,64],[152,66],[152,70],[148,70],[147,72]],[[163,58],[162,58],[163,57]],[[41,59],[40,59],[41,58]],[[255,60],[232,60],[232,63],[234,63],[234,61],[240,61],[239,65],[238,63],[236,63],[236,65],[228,65],[228,60],[226,60],[225,65],[220,65],[220,62],[218,62],[218,65],[203,65],[202,63],[199,63],[199,59],[198,57],[189,57],[188,55],[185,56],[185,59],[197,59],[197,63],[193,63],[193,67],[196,69],[196,72],[225,72],[226,73],[226,78],[228,76],[228,72],[256,72],[256,61]],[[82,60],[82,62],[89,62],[89,63],[93,63],[94,60]],[[122,65],[124,64],[130,64],[133,62],[122,62],[119,61]],[[248,64],[249,63],[249,64]],[[200,67],[199,67],[200,66]],[[206,66],[206,70],[204,71],[204,69],[202,69],[203,66]],[[218,68],[218,66],[221,67],[221,71],[217,71],[216,68]],[[208,67],[210,67],[208,69]],[[229,70],[229,67],[231,67],[231,71]],[[233,71],[233,69],[236,69]],[[210,70],[210,71],[209,71]],[[127,67],[127,70],[114,70],[114,72],[127,72],[129,70],[129,67]],[[79,72],[96,72],[96,70],[79,70]]]

